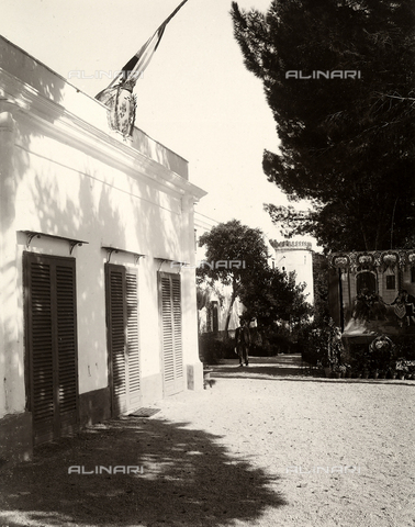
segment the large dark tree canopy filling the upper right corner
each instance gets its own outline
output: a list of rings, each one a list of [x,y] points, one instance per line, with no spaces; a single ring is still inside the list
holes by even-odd
[[[407,247],[415,233],[413,0],[273,0],[266,14],[232,4],[245,65],[277,122],[263,170],[311,210],[267,205],[287,235],[332,250]],[[359,71],[360,78],[287,71]],[[298,76],[299,77],[299,76]]]

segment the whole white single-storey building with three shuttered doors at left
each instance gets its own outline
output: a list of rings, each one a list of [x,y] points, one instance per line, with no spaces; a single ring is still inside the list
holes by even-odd
[[[201,389],[188,162],[0,37],[0,457]]]

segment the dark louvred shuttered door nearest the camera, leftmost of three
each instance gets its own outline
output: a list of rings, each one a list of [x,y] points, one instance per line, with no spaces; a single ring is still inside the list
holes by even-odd
[[[24,254],[29,408],[35,445],[78,429],[75,259]]]

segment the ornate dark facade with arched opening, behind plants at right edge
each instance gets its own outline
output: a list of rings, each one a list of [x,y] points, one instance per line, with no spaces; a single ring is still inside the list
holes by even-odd
[[[415,249],[334,253],[329,303],[344,336],[415,335]]]

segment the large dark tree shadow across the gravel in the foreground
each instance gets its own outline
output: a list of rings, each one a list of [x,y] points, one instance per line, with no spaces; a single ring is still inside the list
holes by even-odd
[[[218,439],[184,423],[126,417],[37,447],[32,462],[0,472],[0,525],[226,526],[282,506],[278,478],[233,458]],[[69,474],[72,466],[143,473]]]

